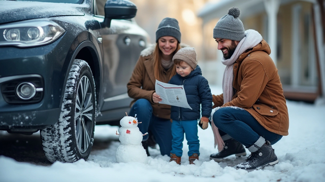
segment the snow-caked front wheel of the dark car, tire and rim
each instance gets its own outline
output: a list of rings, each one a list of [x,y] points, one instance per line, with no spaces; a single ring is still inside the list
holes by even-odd
[[[91,69],[74,60],[58,122],[41,131],[43,150],[50,162],[87,160],[94,141],[96,91]]]

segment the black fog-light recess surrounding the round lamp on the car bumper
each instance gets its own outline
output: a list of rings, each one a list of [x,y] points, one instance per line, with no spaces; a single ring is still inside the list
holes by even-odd
[[[4,82],[1,85],[1,93],[7,103],[31,104],[31,103],[37,103],[42,100],[44,91],[36,92],[35,96],[32,97],[31,99],[28,100],[20,99],[16,94],[16,88],[22,82],[30,82],[34,84],[36,88],[44,88],[44,82],[41,77],[20,78],[20,79]]]

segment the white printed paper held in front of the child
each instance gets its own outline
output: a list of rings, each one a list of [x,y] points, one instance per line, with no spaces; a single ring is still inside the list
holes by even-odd
[[[155,89],[157,95],[162,99],[160,104],[192,109],[187,103],[183,85],[166,84],[156,80]]]

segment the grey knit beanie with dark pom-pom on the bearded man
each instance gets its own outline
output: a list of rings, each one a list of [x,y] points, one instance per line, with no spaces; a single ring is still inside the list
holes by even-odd
[[[245,37],[243,23],[238,18],[240,10],[232,7],[228,10],[228,14],[219,19],[213,29],[213,38],[242,40]]]

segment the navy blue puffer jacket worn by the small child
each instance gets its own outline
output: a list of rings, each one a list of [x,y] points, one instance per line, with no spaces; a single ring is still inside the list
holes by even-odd
[[[188,105],[192,108],[172,106],[170,118],[173,120],[195,120],[200,118],[200,104],[202,104],[202,116],[211,115],[212,94],[208,81],[202,76],[199,65],[188,76],[174,75],[169,84],[184,85]]]

